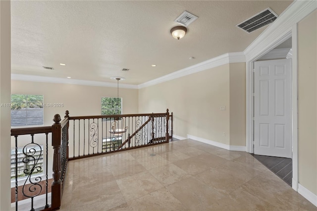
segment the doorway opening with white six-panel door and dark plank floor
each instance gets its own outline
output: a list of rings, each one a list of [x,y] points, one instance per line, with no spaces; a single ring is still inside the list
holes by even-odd
[[[254,157],[292,186],[292,38],[254,61]]]

